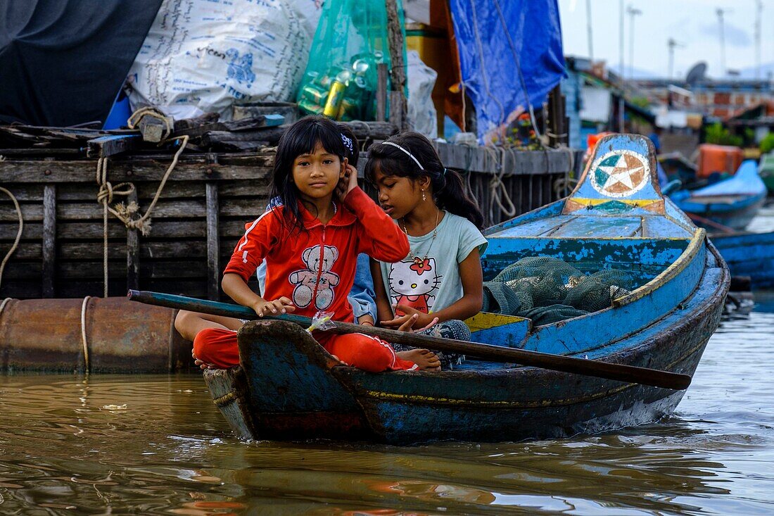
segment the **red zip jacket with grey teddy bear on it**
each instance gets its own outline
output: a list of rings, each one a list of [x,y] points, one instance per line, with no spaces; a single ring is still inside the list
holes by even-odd
[[[398,262],[409,253],[406,234],[359,187],[336,204],[336,214],[325,225],[299,203],[306,231],[291,232],[283,208],[245,225],[224,273],[239,274],[246,283],[265,258],[263,298],[286,296],[298,315],[313,317],[322,310],[333,312],[335,321],[352,322],[347,296],[358,253],[385,262]]]

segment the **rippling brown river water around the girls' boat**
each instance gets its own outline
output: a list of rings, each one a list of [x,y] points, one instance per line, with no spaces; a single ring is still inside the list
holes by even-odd
[[[774,514],[774,293],[673,417],[416,447],[244,443],[198,374],[0,377],[0,514]]]

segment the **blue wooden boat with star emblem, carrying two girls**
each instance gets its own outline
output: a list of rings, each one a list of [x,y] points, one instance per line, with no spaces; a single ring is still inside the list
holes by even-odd
[[[694,373],[719,322],[728,268],[704,229],[661,195],[648,139],[604,138],[569,198],[494,226],[488,239],[488,277],[543,255],[587,272],[626,270],[641,286],[601,311],[548,325],[480,314],[468,321],[474,341],[580,363]],[[367,373],[337,363],[289,322],[248,322],[238,341],[241,366],[204,378],[245,439],[559,438],[657,421],[684,394],[476,359],[440,373]]]

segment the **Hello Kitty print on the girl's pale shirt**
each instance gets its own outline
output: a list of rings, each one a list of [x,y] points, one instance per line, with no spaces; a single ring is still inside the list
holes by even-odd
[[[432,293],[437,290],[442,277],[437,273],[435,258],[392,263],[389,271],[392,301],[429,314],[435,300]],[[402,315],[399,311],[396,313]]]

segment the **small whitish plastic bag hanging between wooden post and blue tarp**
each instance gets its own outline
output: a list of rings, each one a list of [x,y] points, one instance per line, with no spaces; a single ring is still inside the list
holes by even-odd
[[[408,113],[411,129],[422,133],[429,139],[438,137],[438,119],[433,105],[433,88],[437,72],[422,62],[416,50],[406,53],[408,64],[409,105]]]

